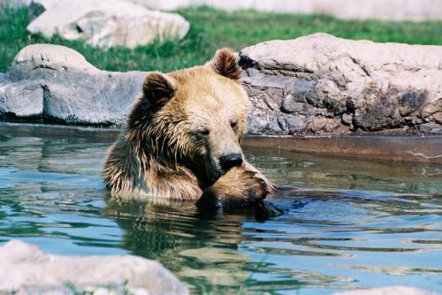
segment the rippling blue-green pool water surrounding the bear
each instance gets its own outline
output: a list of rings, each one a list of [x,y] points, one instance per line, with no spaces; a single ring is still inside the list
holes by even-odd
[[[192,205],[110,200],[103,136],[0,134],[0,243],[161,261],[194,293],[327,294],[386,285],[442,290],[442,167],[246,149],[285,215],[202,219]]]

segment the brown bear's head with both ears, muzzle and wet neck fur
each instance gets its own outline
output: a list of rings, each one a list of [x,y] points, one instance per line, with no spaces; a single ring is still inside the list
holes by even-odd
[[[184,165],[202,185],[243,162],[240,140],[250,102],[240,85],[238,57],[219,49],[205,65],[150,72],[133,105],[126,140],[150,161]]]

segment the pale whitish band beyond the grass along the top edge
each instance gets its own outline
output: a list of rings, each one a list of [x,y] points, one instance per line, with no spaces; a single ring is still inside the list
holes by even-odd
[[[340,19],[442,19],[439,0],[131,0],[160,10],[208,5],[225,10],[254,9],[283,13],[330,14]]]

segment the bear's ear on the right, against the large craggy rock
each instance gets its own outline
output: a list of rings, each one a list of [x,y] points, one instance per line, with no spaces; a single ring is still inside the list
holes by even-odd
[[[218,49],[215,57],[208,65],[221,76],[238,81],[241,78],[241,70],[238,65],[238,56],[231,49]]]

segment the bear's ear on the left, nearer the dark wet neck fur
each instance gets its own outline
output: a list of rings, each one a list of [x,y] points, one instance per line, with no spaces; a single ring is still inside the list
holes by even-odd
[[[161,108],[175,93],[173,79],[161,72],[149,72],[142,85],[144,98],[151,106]]]

